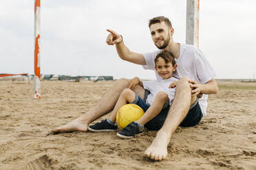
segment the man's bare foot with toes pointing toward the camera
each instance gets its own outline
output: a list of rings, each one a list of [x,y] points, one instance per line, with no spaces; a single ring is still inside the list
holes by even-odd
[[[158,132],[151,145],[144,152],[145,156],[151,160],[164,160],[167,158],[167,145],[169,135]]]

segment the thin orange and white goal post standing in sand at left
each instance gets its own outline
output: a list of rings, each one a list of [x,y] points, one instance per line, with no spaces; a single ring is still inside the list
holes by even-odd
[[[34,0],[34,98],[41,98],[40,0]]]

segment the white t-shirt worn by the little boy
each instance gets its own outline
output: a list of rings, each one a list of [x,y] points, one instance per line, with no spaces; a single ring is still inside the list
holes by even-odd
[[[162,91],[167,93],[169,104],[171,105],[175,95],[175,88],[169,88],[169,85],[175,81],[178,81],[175,77],[160,81],[142,81],[143,87],[150,91],[150,94],[147,96],[146,104],[151,105],[156,98],[156,95]]]

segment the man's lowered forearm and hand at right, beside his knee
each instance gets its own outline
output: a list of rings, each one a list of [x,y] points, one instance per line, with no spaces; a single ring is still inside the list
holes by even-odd
[[[189,80],[191,83],[192,88],[192,96],[201,94],[215,94],[219,90],[217,87],[217,84],[214,79],[211,79],[209,82],[206,82],[206,84],[198,84],[197,82],[193,80]]]

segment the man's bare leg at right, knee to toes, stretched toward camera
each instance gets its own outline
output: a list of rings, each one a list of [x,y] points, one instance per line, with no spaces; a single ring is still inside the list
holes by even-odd
[[[168,112],[164,125],[156,134],[156,138],[146,149],[145,156],[152,160],[167,158],[167,146],[170,138],[182,120],[186,117],[191,105],[191,87],[188,77],[182,77],[176,84],[173,104]]]

